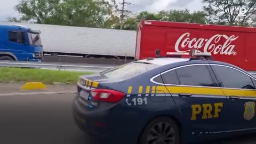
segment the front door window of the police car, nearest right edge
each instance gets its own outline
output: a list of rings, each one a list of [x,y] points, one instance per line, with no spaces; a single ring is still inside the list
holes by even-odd
[[[218,80],[223,87],[234,89],[254,89],[254,85],[249,76],[238,70],[223,66],[211,66]]]

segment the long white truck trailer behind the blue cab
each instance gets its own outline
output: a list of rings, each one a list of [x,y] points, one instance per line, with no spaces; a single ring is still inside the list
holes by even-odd
[[[136,31],[87,27],[0,22],[41,30],[45,55],[86,58],[134,59]]]

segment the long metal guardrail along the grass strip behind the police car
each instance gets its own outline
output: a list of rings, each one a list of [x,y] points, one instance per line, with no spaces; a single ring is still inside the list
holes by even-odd
[[[21,68],[49,68],[49,69],[83,69],[83,70],[107,70],[115,66],[90,65],[74,63],[52,63],[52,62],[21,62],[21,61],[0,61],[0,67],[21,67]]]

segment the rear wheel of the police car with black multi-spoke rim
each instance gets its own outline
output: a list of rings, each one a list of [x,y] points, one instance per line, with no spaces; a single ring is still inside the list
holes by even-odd
[[[161,125],[162,130],[159,131]],[[179,144],[179,139],[179,126],[175,121],[169,117],[159,117],[147,124],[141,134],[139,144],[151,144],[154,142],[157,144]]]

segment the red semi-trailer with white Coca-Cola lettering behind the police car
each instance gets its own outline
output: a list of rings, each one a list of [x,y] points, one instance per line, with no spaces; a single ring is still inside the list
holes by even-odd
[[[135,60],[156,57],[155,51],[210,52],[214,60],[256,71],[256,28],[142,20],[137,27]]]

